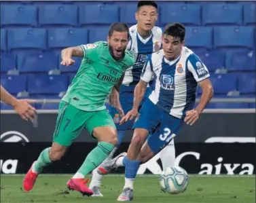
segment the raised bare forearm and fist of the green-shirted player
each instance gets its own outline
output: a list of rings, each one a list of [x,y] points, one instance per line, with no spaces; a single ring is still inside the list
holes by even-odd
[[[63,66],[70,66],[75,64],[75,60],[72,59],[72,56],[83,57],[84,51],[81,49],[80,46],[66,48],[62,50],[61,51],[62,61],[60,62],[60,64],[62,64]]]

